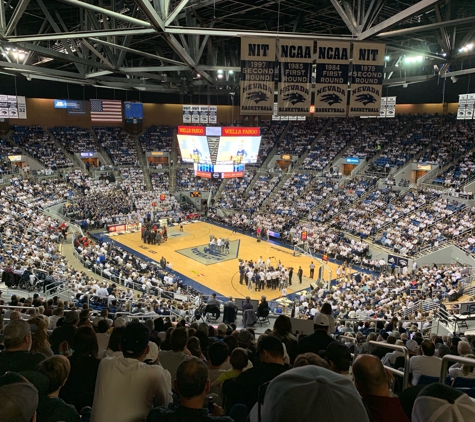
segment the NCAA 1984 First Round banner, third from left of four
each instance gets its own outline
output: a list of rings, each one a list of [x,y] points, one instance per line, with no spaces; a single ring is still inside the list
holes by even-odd
[[[318,41],[316,116],[346,116],[349,70],[349,42]]]

